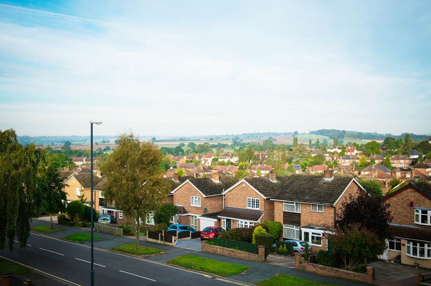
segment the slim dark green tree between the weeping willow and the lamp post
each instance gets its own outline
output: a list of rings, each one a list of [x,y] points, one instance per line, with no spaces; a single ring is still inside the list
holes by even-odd
[[[48,165],[39,170],[37,186],[43,198],[42,209],[49,213],[51,229],[54,229],[52,214],[64,212],[66,210],[67,197],[66,193],[63,191],[65,184],[63,184],[63,179],[54,166]]]

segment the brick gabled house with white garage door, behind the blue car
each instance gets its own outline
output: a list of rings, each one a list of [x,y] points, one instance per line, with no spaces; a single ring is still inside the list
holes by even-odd
[[[220,226],[217,215],[223,210],[223,192],[236,182],[234,177],[220,177],[218,172],[210,178],[188,178],[171,192],[179,208],[176,222],[196,230]]]

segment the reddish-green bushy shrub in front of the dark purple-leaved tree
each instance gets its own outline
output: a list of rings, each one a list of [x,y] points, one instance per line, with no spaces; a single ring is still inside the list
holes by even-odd
[[[386,248],[385,240],[378,235],[358,225],[337,229],[335,234],[329,234],[334,251],[341,254],[346,270],[353,270],[361,261],[366,266],[367,259],[374,259],[383,253]]]

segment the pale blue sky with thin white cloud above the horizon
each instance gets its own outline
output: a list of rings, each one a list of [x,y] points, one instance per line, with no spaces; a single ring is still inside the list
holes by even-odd
[[[0,130],[431,133],[431,1],[1,1]]]

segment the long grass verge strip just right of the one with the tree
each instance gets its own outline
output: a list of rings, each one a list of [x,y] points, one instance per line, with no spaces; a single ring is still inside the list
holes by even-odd
[[[229,276],[242,273],[249,269],[249,266],[221,262],[195,255],[183,255],[167,263],[175,264],[189,269],[200,270],[220,276]]]

